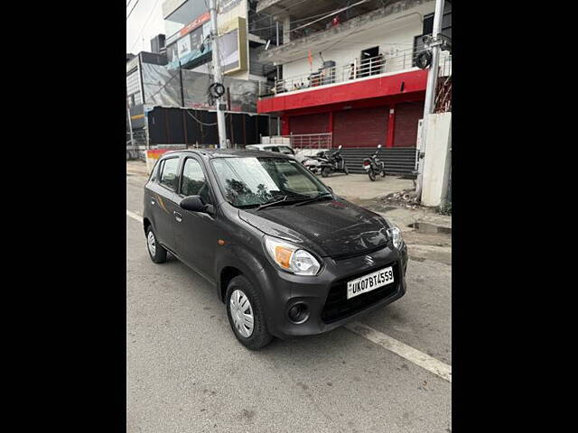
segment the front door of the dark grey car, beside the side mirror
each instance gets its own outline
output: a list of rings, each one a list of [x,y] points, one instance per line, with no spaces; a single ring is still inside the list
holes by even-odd
[[[182,164],[177,201],[189,196],[200,196],[203,203],[214,205],[215,199],[202,161],[186,156]],[[216,208],[213,208],[216,210]],[[219,221],[215,212],[180,210],[182,220],[174,225],[176,253],[183,262],[214,281],[215,248],[219,240]]]

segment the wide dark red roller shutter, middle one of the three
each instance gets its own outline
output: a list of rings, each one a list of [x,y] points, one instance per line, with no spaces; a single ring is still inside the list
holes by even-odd
[[[389,107],[378,106],[333,113],[333,145],[343,147],[386,146]]]

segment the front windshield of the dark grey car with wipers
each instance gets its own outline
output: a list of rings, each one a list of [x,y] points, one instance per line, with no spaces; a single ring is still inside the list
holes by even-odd
[[[216,158],[211,161],[228,202],[258,207],[277,200],[331,194],[299,162],[288,158]]]

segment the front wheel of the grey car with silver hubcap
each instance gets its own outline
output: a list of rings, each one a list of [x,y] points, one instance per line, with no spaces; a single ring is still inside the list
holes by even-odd
[[[256,350],[271,342],[273,336],[266,327],[263,302],[246,277],[238,275],[228,283],[225,302],[228,323],[242,345]]]

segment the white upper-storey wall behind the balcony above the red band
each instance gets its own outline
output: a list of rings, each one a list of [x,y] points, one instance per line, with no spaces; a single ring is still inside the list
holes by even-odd
[[[378,25],[368,23],[342,41],[338,38],[331,49],[322,51],[323,60],[335,61],[337,74],[341,74],[342,67],[349,66],[355,58],[359,58],[362,50],[378,46],[379,53],[386,57],[386,71],[388,70],[387,57],[403,56],[404,52],[407,56],[407,69],[410,69],[414,37],[422,34],[424,14],[433,13],[433,8],[434,2],[427,2],[406,11],[391,14]],[[322,67],[322,58],[314,48],[312,48],[312,59],[312,66],[310,67],[307,52],[304,52],[303,59],[285,63],[283,65],[283,77],[306,76]],[[400,61],[396,60],[394,66],[401,66]],[[337,79],[340,78],[341,76],[338,76]]]

